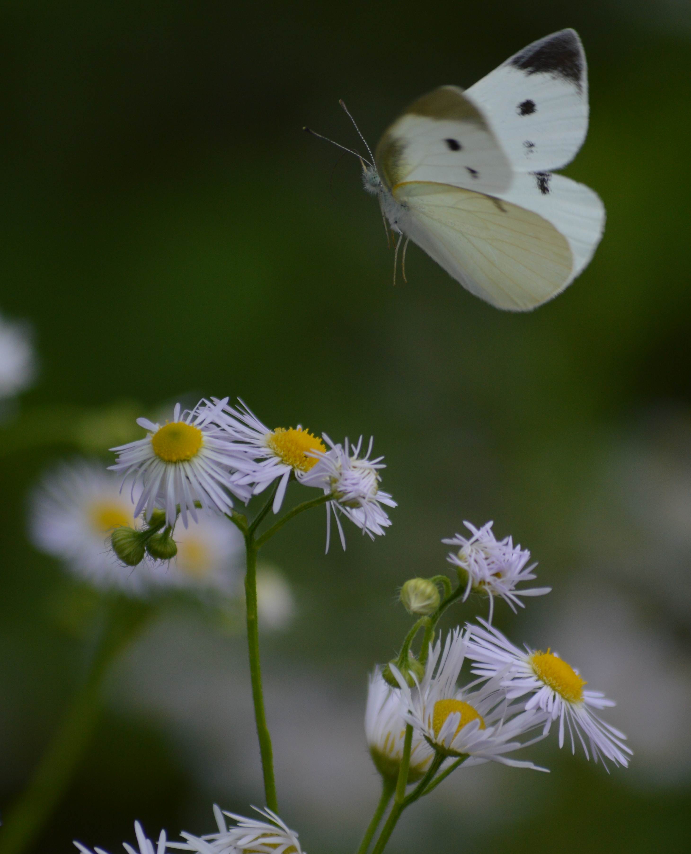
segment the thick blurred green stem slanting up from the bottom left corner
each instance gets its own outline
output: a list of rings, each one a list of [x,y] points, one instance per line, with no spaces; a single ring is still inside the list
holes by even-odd
[[[120,652],[143,628],[152,608],[124,597],[112,601],[91,668],[26,791],[10,806],[0,830],[0,852],[20,854],[48,822],[72,779],[96,728],[105,676]]]

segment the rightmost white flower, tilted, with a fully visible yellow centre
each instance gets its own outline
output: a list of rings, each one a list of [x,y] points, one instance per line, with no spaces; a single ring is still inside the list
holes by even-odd
[[[500,631],[480,620],[483,628],[469,626],[467,656],[476,662],[472,671],[477,676],[495,681],[499,679],[507,692],[507,699],[517,699],[530,694],[524,703],[526,711],[539,709],[548,715],[548,727],[559,718],[559,747],[564,746],[565,726],[571,736],[571,752],[576,752],[577,735],[586,758],[590,745],[594,761],[606,759],[615,765],[629,764],[630,748],[624,745],[626,736],[618,729],[600,720],[594,710],[615,705],[599,691],[586,691],[588,683],[577,670],[555,652],[548,650],[525,651],[513,646]]]

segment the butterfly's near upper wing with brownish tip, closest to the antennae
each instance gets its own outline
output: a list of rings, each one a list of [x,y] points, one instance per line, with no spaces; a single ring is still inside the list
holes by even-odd
[[[434,181],[497,193],[512,179],[487,120],[456,86],[441,86],[413,102],[384,133],[375,160],[389,190],[403,181]]]

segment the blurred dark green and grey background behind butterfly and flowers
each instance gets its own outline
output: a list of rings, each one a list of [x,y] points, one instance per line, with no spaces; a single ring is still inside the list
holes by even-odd
[[[524,316],[413,247],[394,287],[357,162],[302,126],[356,144],[343,97],[376,142],[413,97],[564,26],[589,59],[566,172],[606,203],[594,261]],[[466,518],[530,547],[553,594],[496,622],[618,699],[635,758],[607,775],[549,740],[550,775],[461,770],[390,850],[687,851],[688,3],[3,3],[0,48],[0,308],[31,322],[40,361],[0,433],[3,810],[84,667],[61,618],[74,582],[30,545],[26,494],[54,459],[110,459],[118,419],[138,437],[166,401],[240,395],[270,425],[372,433],[400,504],[346,553],[325,556],[321,511],[266,549],[298,610],[262,643],[279,801],[307,851],[352,851],[369,820],[366,672],[408,625],[396,586],[441,571]],[[121,850],[135,817],[208,832],[214,801],[261,803],[245,646],[179,605],[108,681],[32,851]]]

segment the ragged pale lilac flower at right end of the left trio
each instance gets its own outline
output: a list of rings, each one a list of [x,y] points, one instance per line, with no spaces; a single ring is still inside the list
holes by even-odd
[[[367,446],[367,452],[360,457],[362,436],[354,446],[348,439],[343,445],[331,442],[329,436],[323,434],[329,451],[315,453],[316,465],[298,479],[305,486],[320,487],[332,500],[326,505],[326,551],[329,551],[331,541],[331,512],[336,519],[341,545],[345,548],[345,535],[339,516],[343,515],[373,540],[375,535],[383,536],[384,528],[388,528],[391,520],[382,507],[395,507],[396,502],[388,492],[379,488],[381,476],[379,471],[386,468],[382,462],[384,457],[370,459],[372,439]]]

